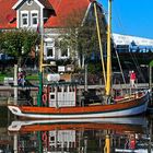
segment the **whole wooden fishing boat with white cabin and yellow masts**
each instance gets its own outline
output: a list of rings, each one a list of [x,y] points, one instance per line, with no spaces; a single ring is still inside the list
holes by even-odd
[[[101,35],[98,27],[98,17],[96,14],[96,1],[93,1],[96,16],[96,27],[99,46]],[[146,111],[148,103],[150,101],[150,91],[137,91],[125,94],[121,97],[111,96],[111,0],[109,0],[109,15],[108,15],[108,30],[107,30],[107,71],[105,83],[105,95],[103,102],[78,104],[76,103],[76,85],[72,83],[55,83],[43,85],[39,84],[39,99],[37,106],[17,106],[9,105],[8,108],[12,114],[19,117],[32,119],[82,119],[82,118],[110,118],[110,117],[127,117],[136,116]],[[42,38],[43,46],[43,38]],[[42,47],[43,48],[43,47]],[[101,47],[99,47],[101,49]],[[40,80],[43,76],[43,49],[40,51]],[[104,67],[104,64],[103,64]],[[104,68],[103,68],[104,70]],[[105,71],[104,71],[105,72]],[[43,94],[43,86],[46,92]],[[47,104],[46,104],[47,102]]]

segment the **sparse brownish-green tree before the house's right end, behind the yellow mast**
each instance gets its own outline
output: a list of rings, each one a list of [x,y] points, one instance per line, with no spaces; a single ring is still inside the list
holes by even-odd
[[[86,10],[78,9],[73,10],[73,13],[71,13],[63,20],[60,19],[60,21],[64,23],[66,28],[61,30],[60,39],[62,43],[59,44],[59,47],[66,48],[67,46],[69,46],[71,51],[70,54],[72,55],[71,57],[73,57],[73,55],[75,55],[76,52],[82,66],[85,61],[89,61],[93,52],[99,55],[93,5],[91,7],[91,10],[86,15],[85,13]],[[101,8],[97,8],[97,15],[101,27],[102,44],[104,44],[106,42],[107,27],[105,16]]]

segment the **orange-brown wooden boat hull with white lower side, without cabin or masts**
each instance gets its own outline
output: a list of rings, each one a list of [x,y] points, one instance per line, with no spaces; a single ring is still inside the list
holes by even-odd
[[[26,118],[42,119],[76,119],[76,118],[109,118],[143,114],[146,111],[150,93],[145,91],[138,97],[121,99],[109,105],[92,105],[78,107],[37,107],[37,106],[8,106],[12,114]]]

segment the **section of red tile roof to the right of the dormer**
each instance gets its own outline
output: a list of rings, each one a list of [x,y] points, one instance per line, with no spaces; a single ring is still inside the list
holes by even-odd
[[[50,16],[45,23],[45,27],[63,27],[69,22],[81,23],[85,11],[90,4],[90,0],[49,0],[52,4],[56,15]]]

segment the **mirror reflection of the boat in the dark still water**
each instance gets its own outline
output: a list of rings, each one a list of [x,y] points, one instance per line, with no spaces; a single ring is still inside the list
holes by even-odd
[[[17,152],[149,152],[143,117],[13,121],[9,133]],[[151,149],[150,149],[151,150]]]

